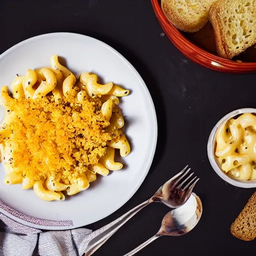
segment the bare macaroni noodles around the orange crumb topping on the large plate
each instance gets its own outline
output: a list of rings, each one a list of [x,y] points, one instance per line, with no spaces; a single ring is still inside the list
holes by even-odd
[[[18,100],[17,102],[40,100],[41,98],[46,97],[48,93],[53,94],[56,104],[61,98],[70,100],[75,99],[75,104],[79,105],[79,102],[82,102],[86,96],[89,96],[89,100],[93,100],[93,98],[97,97],[100,98],[99,102],[101,101],[102,118],[105,118],[105,121],[108,122],[108,125],[104,130],[106,132],[118,131],[119,135],[117,138],[107,140],[104,145],[106,147],[105,152],[103,155],[100,155],[99,153],[97,162],[93,162],[91,164],[88,160],[89,158],[85,157],[84,161],[86,164],[84,163],[85,165],[83,166],[86,166],[86,168],[84,167],[82,171],[79,171],[79,173],[72,179],[68,180],[68,182],[63,182],[61,179],[56,180],[54,177],[54,170],[51,170],[50,167],[47,176],[44,176],[39,180],[33,179],[31,176],[26,176],[21,171],[19,172],[15,164],[12,162],[12,159],[15,162],[12,151],[13,146],[15,145],[15,140],[12,140],[12,135],[15,130],[13,131],[9,127],[12,122],[15,122],[15,118],[18,118],[18,114],[14,110],[7,110],[0,129],[1,153],[2,158],[5,159],[3,160],[6,173],[4,183],[21,183],[22,189],[33,188],[35,194],[40,199],[46,201],[64,200],[64,193],[67,195],[73,195],[87,189],[89,187],[89,183],[96,179],[97,173],[105,176],[109,173],[109,170],[119,170],[122,168],[122,163],[114,161],[115,149],[119,150],[122,157],[126,156],[130,152],[129,142],[124,133],[119,130],[123,127],[124,120],[121,109],[118,107],[118,97],[128,95],[129,90],[123,89],[112,82],[99,84],[97,82],[97,75],[89,72],[81,73],[77,83],[74,74],[58,62],[57,55],[51,56],[50,63],[51,68],[43,67],[36,70],[27,69],[25,76],[15,77],[11,84],[13,97],[8,91],[7,86],[2,87],[1,103],[5,105],[6,109],[8,109],[9,102],[12,100]],[[83,111],[86,111],[86,109],[83,109]],[[44,110],[43,113],[47,114],[47,111]],[[73,113],[72,118],[79,117],[77,113],[76,115]],[[61,132],[61,130],[59,132]],[[26,136],[28,135],[26,134]],[[83,135],[81,135],[81,139],[86,140],[87,138],[83,138]],[[37,143],[37,141],[34,143]],[[39,147],[41,146],[40,143],[41,142],[38,142]],[[48,148],[54,146],[54,143],[50,138],[48,141],[44,141],[44,143],[47,143]],[[33,144],[30,144],[30,147],[32,146]],[[39,153],[43,154],[43,152]],[[45,155],[43,155],[43,157],[45,159],[45,164],[47,166],[51,166],[52,161],[54,161],[54,159],[52,160],[52,155],[47,151],[44,152],[44,154]],[[231,157],[231,155],[229,157]],[[70,172],[71,171],[73,170],[70,170]]]

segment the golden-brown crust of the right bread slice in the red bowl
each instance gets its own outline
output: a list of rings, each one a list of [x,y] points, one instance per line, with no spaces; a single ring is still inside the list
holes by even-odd
[[[252,0],[251,2],[253,2]],[[236,49],[235,51],[231,49],[230,42],[227,38],[228,33],[226,31],[226,27],[224,25],[224,14],[226,14],[226,9],[229,8],[229,3],[231,4],[237,4],[237,6],[240,4],[240,0],[217,0],[213,2],[209,8],[209,21],[212,24],[213,30],[214,30],[214,36],[215,36],[215,42],[216,42],[216,50],[220,57],[223,58],[232,58],[241,52],[243,52],[246,48],[256,43],[256,39],[254,42],[247,43],[247,44],[241,44],[241,47],[239,49]],[[255,1],[254,1],[255,2]],[[234,22],[234,21],[232,21]],[[242,28],[238,28],[242,29]]]

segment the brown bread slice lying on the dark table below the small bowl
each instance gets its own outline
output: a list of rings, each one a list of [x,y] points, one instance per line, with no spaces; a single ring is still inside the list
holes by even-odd
[[[248,202],[231,224],[230,231],[233,236],[251,241],[256,237],[256,192],[249,198]]]

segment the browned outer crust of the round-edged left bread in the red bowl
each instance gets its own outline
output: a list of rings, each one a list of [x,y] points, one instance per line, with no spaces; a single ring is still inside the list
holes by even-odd
[[[214,0],[205,0],[205,5],[210,5],[213,1]],[[175,0],[161,0],[161,8],[169,22],[184,32],[196,32],[208,21],[207,8],[205,11],[201,11],[201,13],[194,15],[192,18],[187,13],[180,14],[178,12]]]

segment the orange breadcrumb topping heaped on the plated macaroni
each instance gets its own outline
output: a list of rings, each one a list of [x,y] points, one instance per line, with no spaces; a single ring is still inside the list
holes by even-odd
[[[13,170],[33,180],[46,179],[70,184],[105,154],[106,142],[119,132],[107,132],[109,122],[101,113],[100,98],[81,101],[59,99],[51,93],[37,99],[9,99],[7,111],[17,116],[8,124],[13,141],[9,159]]]

